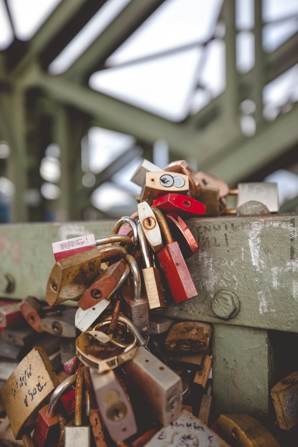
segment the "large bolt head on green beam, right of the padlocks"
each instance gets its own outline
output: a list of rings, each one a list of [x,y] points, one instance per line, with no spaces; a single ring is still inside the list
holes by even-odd
[[[220,290],[212,298],[211,307],[215,315],[229,320],[239,313],[240,301],[234,292]]]

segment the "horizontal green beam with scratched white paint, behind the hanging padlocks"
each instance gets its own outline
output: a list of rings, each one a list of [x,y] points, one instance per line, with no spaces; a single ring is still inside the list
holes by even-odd
[[[218,217],[188,220],[200,247],[187,260],[198,295],[172,305],[167,315],[213,323],[298,332],[297,215]],[[13,275],[12,294],[44,299],[55,262],[52,242],[94,233],[110,234],[114,221],[1,225],[0,266]],[[9,241],[13,241],[8,246]],[[240,300],[235,318],[214,315],[211,300],[220,290]]]

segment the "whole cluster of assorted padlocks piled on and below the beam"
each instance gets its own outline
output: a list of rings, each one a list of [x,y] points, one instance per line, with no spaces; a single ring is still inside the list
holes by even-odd
[[[132,180],[142,186],[138,211],[119,219],[112,235],[53,243],[48,306],[32,296],[0,303],[7,414],[0,439],[37,447],[278,446],[246,414],[212,420],[211,325],[163,316],[197,295],[185,259],[199,247],[187,219],[227,212],[231,191],[184,160],[164,171],[145,160]],[[247,203],[249,186],[238,194]],[[269,195],[262,212],[277,211]],[[272,390],[282,429],[298,422],[297,402],[284,411],[297,381],[292,374]]]

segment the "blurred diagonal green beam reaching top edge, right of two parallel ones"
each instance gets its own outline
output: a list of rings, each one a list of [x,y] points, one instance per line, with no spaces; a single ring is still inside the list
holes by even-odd
[[[164,0],[131,0],[101,35],[67,70],[66,76],[87,81],[105,60],[158,8]]]

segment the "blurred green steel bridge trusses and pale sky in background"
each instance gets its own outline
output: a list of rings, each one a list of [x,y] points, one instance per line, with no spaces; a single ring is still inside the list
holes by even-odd
[[[0,0],[0,221],[117,217],[143,158],[298,211],[297,0]]]

